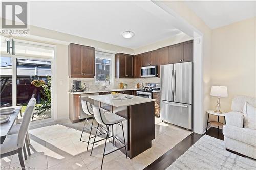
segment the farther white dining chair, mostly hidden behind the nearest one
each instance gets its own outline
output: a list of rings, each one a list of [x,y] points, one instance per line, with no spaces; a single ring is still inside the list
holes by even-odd
[[[34,99],[35,99],[35,98],[33,98],[33,95],[32,95],[32,98],[29,100],[27,106],[33,104],[33,103],[34,103]],[[27,107],[26,107],[26,109],[25,109],[25,111],[24,111],[24,114],[25,114],[26,110],[27,110]],[[15,125],[13,125],[8,135],[17,134],[17,133],[19,132],[20,125],[21,125],[21,124],[15,124]],[[31,155],[30,148],[29,148],[29,145],[30,145],[30,138],[29,138],[29,133],[28,133],[28,132],[27,132],[27,135],[26,135],[25,144],[26,144],[26,148],[27,148],[28,155]],[[26,156],[25,156],[25,159],[27,159]]]

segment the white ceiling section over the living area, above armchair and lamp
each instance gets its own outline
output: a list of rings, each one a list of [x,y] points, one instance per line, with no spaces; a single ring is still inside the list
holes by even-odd
[[[211,29],[256,16],[256,1],[186,1]]]

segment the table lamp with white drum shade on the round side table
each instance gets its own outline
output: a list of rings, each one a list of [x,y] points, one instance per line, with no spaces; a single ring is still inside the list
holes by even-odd
[[[227,87],[226,86],[211,86],[210,95],[218,97],[217,105],[216,105],[216,110],[214,112],[215,113],[222,113],[220,111],[220,109],[221,109],[220,98],[227,97]]]

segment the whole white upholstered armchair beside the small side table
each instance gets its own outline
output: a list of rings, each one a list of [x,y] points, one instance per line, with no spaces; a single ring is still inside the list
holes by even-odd
[[[244,110],[247,105],[251,108],[248,118],[245,115],[246,110]],[[256,98],[246,96],[234,98],[232,111],[226,114],[226,125],[223,126],[226,149],[254,159],[256,159],[255,106]]]

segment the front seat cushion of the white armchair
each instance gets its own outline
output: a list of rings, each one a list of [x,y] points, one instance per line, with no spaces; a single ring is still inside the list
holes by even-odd
[[[225,137],[235,139],[256,147],[256,130],[254,129],[224,125],[223,134]]]

